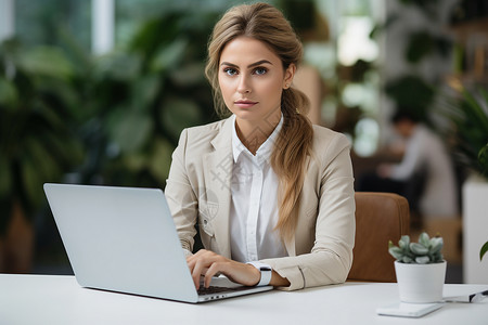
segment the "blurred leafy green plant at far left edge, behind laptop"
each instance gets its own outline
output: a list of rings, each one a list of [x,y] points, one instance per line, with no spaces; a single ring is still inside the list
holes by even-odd
[[[0,44],[0,235],[15,203],[31,217],[44,202],[42,184],[82,161],[73,131],[75,75],[59,49],[27,51],[16,40]]]

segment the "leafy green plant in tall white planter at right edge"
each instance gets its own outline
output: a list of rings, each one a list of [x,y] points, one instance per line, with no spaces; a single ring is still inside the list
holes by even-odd
[[[463,183],[463,276],[464,283],[488,284],[488,92],[460,89],[448,105],[458,162],[470,176]]]

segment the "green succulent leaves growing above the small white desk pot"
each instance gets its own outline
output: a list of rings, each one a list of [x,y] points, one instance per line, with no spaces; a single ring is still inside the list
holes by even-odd
[[[428,264],[444,261],[442,237],[428,237],[427,233],[419,236],[419,243],[410,243],[410,236],[401,236],[398,246],[388,243],[388,252],[401,263]]]

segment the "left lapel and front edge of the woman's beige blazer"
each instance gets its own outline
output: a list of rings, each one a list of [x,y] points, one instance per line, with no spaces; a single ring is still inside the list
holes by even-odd
[[[217,211],[211,221],[215,239],[219,253],[231,257],[229,213],[231,204],[231,176],[233,168],[232,157],[232,127],[233,119],[228,118],[217,136],[210,142],[215,151],[205,157],[205,183],[207,191],[217,198]]]

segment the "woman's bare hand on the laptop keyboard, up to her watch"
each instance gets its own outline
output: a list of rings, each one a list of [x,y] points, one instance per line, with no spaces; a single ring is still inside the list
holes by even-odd
[[[208,287],[211,277],[217,273],[222,273],[230,281],[245,286],[254,286],[261,278],[259,270],[255,266],[227,259],[206,249],[201,249],[195,255],[188,257],[187,263],[196,289],[200,288],[201,276],[204,276],[204,286]]]

